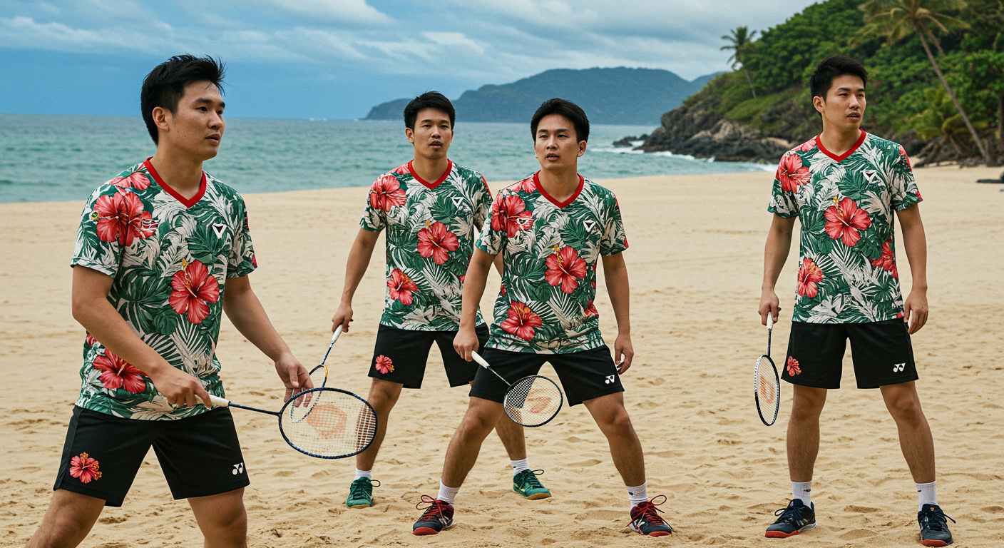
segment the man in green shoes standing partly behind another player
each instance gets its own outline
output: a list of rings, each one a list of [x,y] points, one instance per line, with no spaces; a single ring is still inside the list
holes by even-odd
[[[491,193],[480,173],[447,157],[455,119],[450,100],[436,92],[405,107],[405,137],[415,157],[373,183],[348,253],[341,303],[331,318],[331,329],[341,326],[345,333],[352,321],[352,296],[380,232],[387,230],[387,299],[366,397],[380,420],[372,443],[355,456],[355,479],[345,500],[349,508],[372,506],[371,471],[388,418],[403,387],[422,387],[433,342],[443,354],[450,386],[467,385],[478,369],[460,359],[453,338],[460,322],[464,272],[476,230],[491,207]],[[480,313],[477,324],[479,336],[487,340]],[[531,500],[550,497],[527,464],[522,426],[500,420],[497,431],[512,464],[513,491]]]

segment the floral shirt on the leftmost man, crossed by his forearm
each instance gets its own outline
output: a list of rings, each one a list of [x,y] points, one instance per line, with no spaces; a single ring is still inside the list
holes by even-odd
[[[244,200],[203,173],[186,199],[144,162],[97,187],[83,208],[74,266],[112,278],[108,303],[174,367],[223,396],[215,350],[227,279],[255,269]],[[93,336],[83,345],[76,404],[115,416],[166,420],[196,415],[175,409],[147,374]]]

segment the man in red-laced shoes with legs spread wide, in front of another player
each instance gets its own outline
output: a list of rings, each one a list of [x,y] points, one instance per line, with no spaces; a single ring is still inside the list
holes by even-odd
[[[610,455],[628,487],[631,527],[645,535],[672,529],[649,500],[642,444],[623,405],[618,374],[631,367],[635,351],[629,320],[628,248],[620,210],[609,190],[578,175],[589,121],[577,106],[560,99],[544,102],[530,132],[540,171],[501,192],[492,203],[467,269],[460,332],[454,347],[465,360],[484,346],[484,358],[510,382],[554,366],[569,405],[584,403],[606,435]],[[475,325],[488,269],[503,261],[502,289],[485,345]],[[602,256],[607,292],[617,320],[613,353],[599,333],[595,297],[596,262]],[[467,414],[447,449],[437,499],[412,528],[434,535],[453,525],[454,501],[474,467],[481,442],[498,420],[508,420],[502,400],[507,385],[478,370]]]

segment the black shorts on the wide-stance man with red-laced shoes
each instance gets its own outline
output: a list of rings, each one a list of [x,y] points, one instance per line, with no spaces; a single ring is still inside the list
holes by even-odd
[[[624,391],[617,366],[613,365],[610,349],[606,345],[569,354],[535,354],[486,348],[482,357],[509,382],[536,375],[544,362],[549,362],[561,380],[568,405]],[[502,403],[508,389],[502,379],[479,367],[471,387],[471,397]]]

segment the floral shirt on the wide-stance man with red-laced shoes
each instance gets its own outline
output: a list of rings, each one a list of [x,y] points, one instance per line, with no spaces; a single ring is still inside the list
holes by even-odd
[[[503,260],[488,347],[568,354],[603,345],[592,303],[596,261],[628,248],[612,192],[580,175],[558,202],[538,172],[495,196],[477,245]]]

